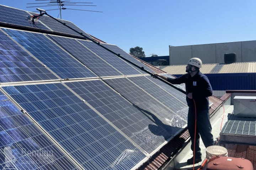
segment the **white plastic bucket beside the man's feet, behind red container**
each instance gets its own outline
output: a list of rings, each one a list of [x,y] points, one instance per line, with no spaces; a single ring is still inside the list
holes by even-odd
[[[228,150],[222,146],[208,146],[206,148],[206,159],[209,161],[210,158],[215,156],[227,157]]]

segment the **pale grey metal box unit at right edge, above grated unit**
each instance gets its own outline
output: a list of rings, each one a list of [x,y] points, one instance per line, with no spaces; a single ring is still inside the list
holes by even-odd
[[[256,96],[235,96],[234,115],[238,117],[256,117]]]

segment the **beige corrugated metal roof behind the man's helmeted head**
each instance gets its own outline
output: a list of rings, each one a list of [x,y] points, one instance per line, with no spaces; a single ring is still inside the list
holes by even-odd
[[[186,65],[167,66],[162,68],[169,74],[185,74]],[[256,73],[256,62],[228,63],[228,64],[203,64],[200,71],[203,74],[214,73]]]

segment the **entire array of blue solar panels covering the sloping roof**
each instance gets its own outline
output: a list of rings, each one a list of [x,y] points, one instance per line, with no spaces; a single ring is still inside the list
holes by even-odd
[[[0,22],[29,27],[25,11],[1,9]],[[10,12],[21,12],[17,23]],[[41,22],[61,32],[49,18]],[[135,169],[186,126],[184,94],[116,45],[69,31],[1,27],[0,169]]]

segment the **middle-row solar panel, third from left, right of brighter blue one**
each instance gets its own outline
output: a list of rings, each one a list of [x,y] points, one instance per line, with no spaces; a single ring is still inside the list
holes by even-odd
[[[106,61],[96,56],[75,39],[52,35],[50,35],[50,37],[54,41],[58,42],[59,45],[61,45],[64,49],[76,57],[80,62],[85,64],[85,66],[90,68],[99,77],[122,75],[120,72],[118,72],[117,69],[113,68]]]

